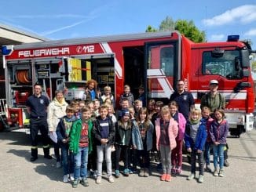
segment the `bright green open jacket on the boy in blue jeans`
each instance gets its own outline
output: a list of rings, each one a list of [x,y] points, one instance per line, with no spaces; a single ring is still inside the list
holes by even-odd
[[[88,121],[88,138],[89,138],[89,154],[93,150],[93,140],[92,140],[92,129],[93,122],[91,120]],[[77,154],[79,151],[79,140],[82,130],[82,120],[76,120],[71,128],[70,133],[70,142],[69,142],[69,150],[71,150],[74,154]]]

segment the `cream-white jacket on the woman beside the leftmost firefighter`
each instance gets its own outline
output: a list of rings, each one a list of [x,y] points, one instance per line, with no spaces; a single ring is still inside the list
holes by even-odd
[[[49,132],[55,132],[60,118],[66,115],[66,108],[68,103],[66,101],[60,103],[56,98],[49,103],[48,113],[47,113],[47,123],[49,127]]]

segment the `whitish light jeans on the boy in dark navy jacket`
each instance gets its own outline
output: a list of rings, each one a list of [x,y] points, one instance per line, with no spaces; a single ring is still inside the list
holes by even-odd
[[[110,144],[97,145],[97,176],[102,175],[102,163],[104,157],[107,164],[107,174],[108,176],[112,176],[111,150],[112,146]]]

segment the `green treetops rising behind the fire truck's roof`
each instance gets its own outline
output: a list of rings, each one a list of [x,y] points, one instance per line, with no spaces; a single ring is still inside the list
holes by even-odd
[[[189,38],[193,42],[205,42],[206,34],[204,31],[199,31],[192,20],[174,20],[170,16],[166,16],[166,19],[161,22],[159,29],[148,25],[146,32],[155,32],[155,31],[180,31],[181,34],[184,34],[185,37]]]

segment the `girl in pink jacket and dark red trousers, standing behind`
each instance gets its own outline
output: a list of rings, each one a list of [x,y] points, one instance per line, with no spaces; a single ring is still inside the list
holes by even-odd
[[[171,172],[181,174],[182,169],[182,146],[183,146],[183,139],[185,136],[185,126],[186,126],[186,119],[184,118],[183,114],[179,113],[177,110],[177,102],[172,101],[169,104],[170,114],[177,121],[178,125],[178,134],[176,137],[177,147],[171,151]]]

